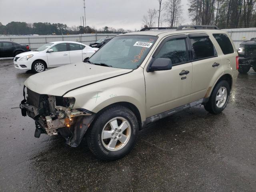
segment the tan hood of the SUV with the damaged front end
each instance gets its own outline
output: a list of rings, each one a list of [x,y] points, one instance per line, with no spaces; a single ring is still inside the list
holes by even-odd
[[[84,62],[68,64],[30,76],[24,85],[39,94],[62,96],[67,91],[131,72]]]

